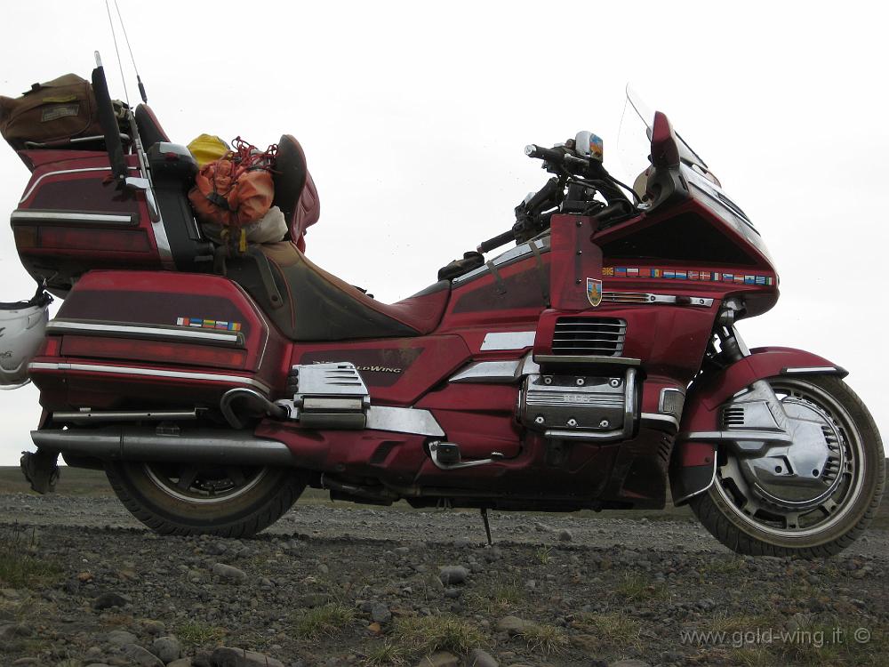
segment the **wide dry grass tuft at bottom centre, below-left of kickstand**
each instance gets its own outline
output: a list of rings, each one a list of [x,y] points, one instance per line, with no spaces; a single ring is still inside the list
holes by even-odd
[[[482,631],[453,614],[399,618],[392,629],[392,638],[410,655],[436,651],[464,654],[485,644]]]

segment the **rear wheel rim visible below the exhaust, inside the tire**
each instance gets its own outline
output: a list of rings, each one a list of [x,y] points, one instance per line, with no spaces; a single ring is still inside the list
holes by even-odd
[[[230,502],[248,493],[268,474],[268,468],[255,466],[143,463],[142,467],[164,494],[199,505]]]

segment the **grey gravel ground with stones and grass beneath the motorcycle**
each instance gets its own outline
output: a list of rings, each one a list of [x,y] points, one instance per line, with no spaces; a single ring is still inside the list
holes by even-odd
[[[170,538],[113,497],[0,494],[0,664],[889,664],[885,530],[807,561],[693,519],[491,524],[493,548],[473,512],[298,503]]]

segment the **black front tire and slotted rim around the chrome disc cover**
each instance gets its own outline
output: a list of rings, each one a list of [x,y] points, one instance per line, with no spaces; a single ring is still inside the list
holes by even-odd
[[[879,507],[885,454],[877,425],[861,398],[836,376],[781,376],[766,382],[783,406],[805,412],[807,419],[820,419],[831,440],[836,439],[831,441],[836,451],[831,469],[821,471],[833,476],[836,467],[836,477],[808,502],[781,502],[770,489],[764,490],[749,475],[745,478],[740,457],[722,447],[712,486],[689,504],[710,534],[738,553],[832,556],[864,532]]]

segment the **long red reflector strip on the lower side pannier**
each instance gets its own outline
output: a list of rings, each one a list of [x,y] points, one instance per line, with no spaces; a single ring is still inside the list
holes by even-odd
[[[182,342],[66,335],[62,339],[60,356],[130,359],[182,366],[243,368],[246,352]]]

